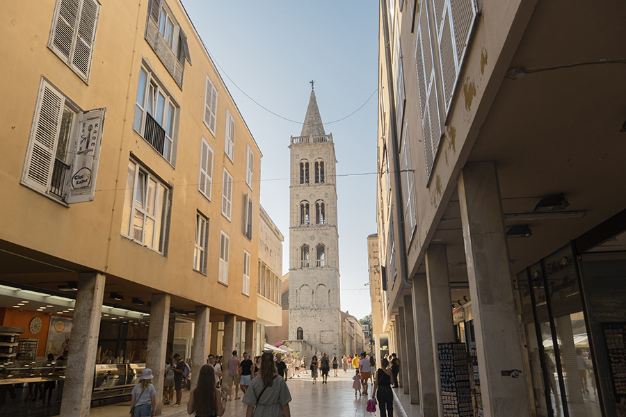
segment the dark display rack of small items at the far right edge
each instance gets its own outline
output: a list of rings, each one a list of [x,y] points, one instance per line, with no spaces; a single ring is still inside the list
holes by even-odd
[[[602,323],[618,417],[626,417],[626,323]]]

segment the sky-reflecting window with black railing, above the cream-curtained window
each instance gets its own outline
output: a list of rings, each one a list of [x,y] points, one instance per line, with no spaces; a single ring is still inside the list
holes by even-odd
[[[145,67],[139,72],[133,129],[174,165],[179,106]]]

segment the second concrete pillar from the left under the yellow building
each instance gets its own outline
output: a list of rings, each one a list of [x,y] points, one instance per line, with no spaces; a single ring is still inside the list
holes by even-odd
[[[152,294],[150,307],[150,329],[148,330],[148,345],[145,359],[146,368],[152,370],[152,384],[157,390],[157,407],[154,415],[161,414],[163,401],[163,373],[167,354],[168,327],[170,325],[170,302],[168,294]]]

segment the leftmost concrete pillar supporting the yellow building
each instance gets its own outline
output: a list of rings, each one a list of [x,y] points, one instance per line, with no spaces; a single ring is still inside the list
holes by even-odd
[[[103,274],[79,275],[72,322],[72,343],[63,381],[61,416],[89,416],[104,281]]]

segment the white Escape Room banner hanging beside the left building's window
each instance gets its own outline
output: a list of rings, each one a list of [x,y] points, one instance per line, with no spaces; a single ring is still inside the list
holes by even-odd
[[[100,161],[106,108],[83,112],[74,145],[75,156],[67,177],[65,200],[69,204],[92,202]]]

